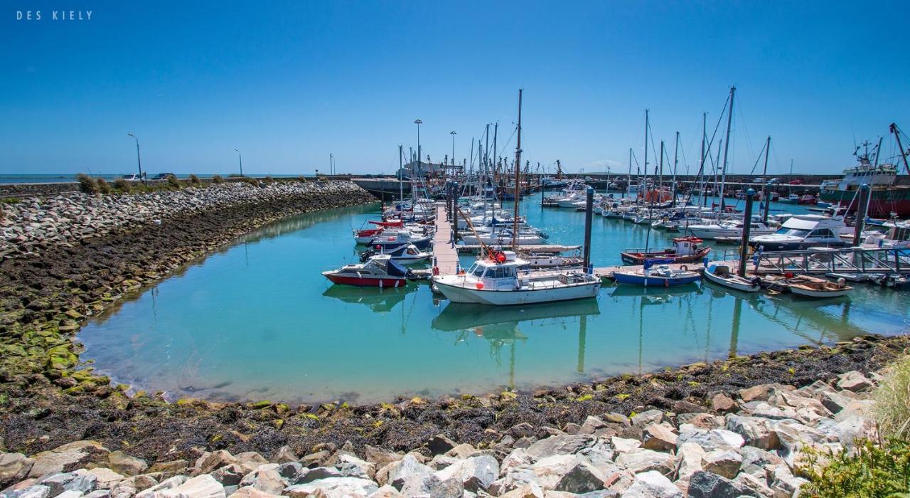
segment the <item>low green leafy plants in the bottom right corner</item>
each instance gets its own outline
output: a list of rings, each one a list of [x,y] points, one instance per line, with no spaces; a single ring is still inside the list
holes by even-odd
[[[807,453],[809,464],[800,473],[809,480],[801,490],[808,496],[903,498],[901,493],[910,493],[910,442],[890,438],[879,446],[859,441],[853,456],[845,450],[830,456]],[[820,457],[826,456],[830,460],[822,463]]]

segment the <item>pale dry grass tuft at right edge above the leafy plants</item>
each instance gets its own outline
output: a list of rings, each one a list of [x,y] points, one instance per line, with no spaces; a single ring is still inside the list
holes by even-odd
[[[910,439],[910,356],[885,369],[875,390],[875,419],[882,434]]]

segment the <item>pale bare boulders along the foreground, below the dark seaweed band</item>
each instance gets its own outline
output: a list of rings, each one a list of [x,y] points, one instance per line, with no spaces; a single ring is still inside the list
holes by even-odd
[[[796,388],[761,384],[714,392],[710,408],[523,422],[484,447],[438,434],[410,452],[319,444],[300,457],[208,452],[149,464],[98,442],[31,456],[0,454],[3,498],[428,496],[634,498],[794,496],[807,452],[874,438],[867,418],[875,372],[848,371]],[[8,486],[8,487],[7,487]]]

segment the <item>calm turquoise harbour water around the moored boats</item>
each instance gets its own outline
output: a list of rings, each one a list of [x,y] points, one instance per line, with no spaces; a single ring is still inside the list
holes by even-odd
[[[539,203],[539,194],[522,202],[532,224],[552,243],[581,243],[583,213]],[[238,239],[88,323],[82,358],[172,398],[355,403],[560,385],[907,328],[910,293],[861,284],[819,301],[605,283],[597,300],[495,309],[435,300],[426,283],[330,285],[319,272],[357,260],[350,229],[378,207],[303,215]],[[595,217],[595,266],[619,264],[646,233]],[[651,236],[652,247],[672,238]]]

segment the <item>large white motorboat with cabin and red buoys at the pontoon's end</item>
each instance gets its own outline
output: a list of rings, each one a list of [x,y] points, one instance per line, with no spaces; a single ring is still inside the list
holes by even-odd
[[[460,275],[433,277],[433,285],[452,302],[510,306],[592,298],[601,279],[581,269],[526,270],[514,252],[494,252]]]

